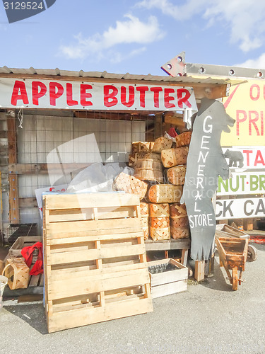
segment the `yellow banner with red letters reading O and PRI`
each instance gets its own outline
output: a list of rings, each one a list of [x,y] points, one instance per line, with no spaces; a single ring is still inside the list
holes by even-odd
[[[230,87],[223,98],[226,113],[235,119],[230,133],[223,132],[221,146],[263,146],[265,118],[265,81],[249,80]]]

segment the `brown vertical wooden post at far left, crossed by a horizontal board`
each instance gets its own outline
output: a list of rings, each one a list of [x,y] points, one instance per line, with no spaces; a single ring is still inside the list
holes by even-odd
[[[17,141],[16,141],[16,116],[7,118],[7,139],[8,139],[8,164],[17,163]],[[18,204],[18,176],[15,173],[8,173],[9,182],[9,221],[11,224],[19,224]]]

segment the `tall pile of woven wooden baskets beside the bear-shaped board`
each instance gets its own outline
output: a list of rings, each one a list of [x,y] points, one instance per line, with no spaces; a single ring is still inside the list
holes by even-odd
[[[133,142],[129,166],[134,176],[120,173],[114,190],[139,194],[144,238],[154,241],[189,238],[189,222],[180,204],[192,132],[182,132],[175,142],[159,137],[155,142]]]

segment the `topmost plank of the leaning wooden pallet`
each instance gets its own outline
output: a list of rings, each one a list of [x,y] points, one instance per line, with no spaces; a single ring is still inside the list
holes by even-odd
[[[129,193],[78,193],[46,195],[47,210],[82,209],[87,207],[121,207],[139,205],[139,195]]]

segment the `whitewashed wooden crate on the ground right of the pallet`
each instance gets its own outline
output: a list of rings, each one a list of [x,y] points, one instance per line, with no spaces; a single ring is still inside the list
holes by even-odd
[[[165,295],[175,294],[187,290],[188,268],[172,258],[160,259],[159,261],[148,262],[148,269],[152,265],[172,264],[177,267],[175,270],[150,274],[151,295],[153,299]]]

